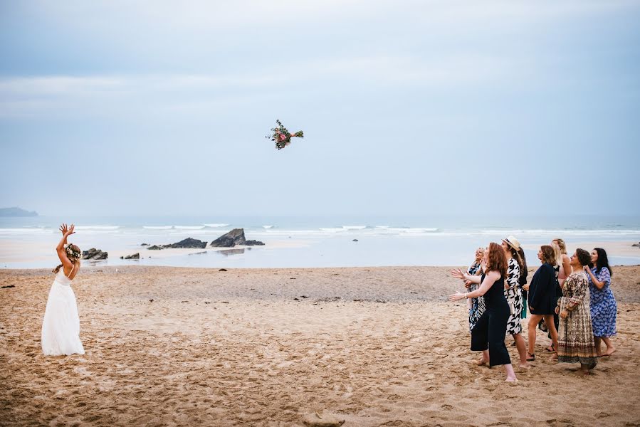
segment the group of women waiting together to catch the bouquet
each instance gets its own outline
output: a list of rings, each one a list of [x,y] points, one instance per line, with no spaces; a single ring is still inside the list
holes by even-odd
[[[577,249],[567,254],[565,241],[554,239],[540,246],[542,265],[527,284],[527,263],[520,242],[513,236],[501,245],[490,243],[476,250],[476,260],[466,272],[453,270],[464,281],[467,292],[456,292],[449,300],[468,299],[471,350],[481,351],[476,364],[504,365],[506,381],[517,381],[505,336],[513,337],[519,366],[535,360],[537,329],[548,332],[547,352],[558,362],[580,363],[580,374],[588,374],[597,358],[615,352],[617,305],[611,290],[612,269],[607,252]],[[521,320],[531,314],[528,342]],[[601,352],[601,342],[607,346]]]

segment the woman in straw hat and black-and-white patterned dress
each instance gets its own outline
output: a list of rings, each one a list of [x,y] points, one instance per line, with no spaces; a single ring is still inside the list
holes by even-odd
[[[503,239],[502,248],[505,251],[505,258],[507,258],[507,280],[505,280],[505,298],[509,304],[510,316],[507,321],[507,333],[511,334],[515,341],[515,347],[518,349],[520,355],[520,367],[528,368],[527,363],[527,348],[525,347],[525,339],[521,332],[523,331],[522,325],[520,325],[520,315],[523,311],[523,292],[520,289],[520,268],[522,268],[522,260],[518,255],[520,249],[520,242],[513,236]]]

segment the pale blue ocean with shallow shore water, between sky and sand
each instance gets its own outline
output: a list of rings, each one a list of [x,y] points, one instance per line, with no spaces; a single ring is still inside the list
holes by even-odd
[[[639,242],[640,217],[259,217],[259,216],[34,216],[0,218],[0,268],[57,265],[60,223],[75,223],[70,241],[83,250],[140,253],[140,260],[117,257],[96,265],[169,265],[206,268],[300,268],[393,265],[467,265],[478,246],[513,235],[537,265],[537,246],[564,238],[581,242]],[[158,257],[142,243],[168,244],[191,237],[211,243],[244,228],[246,238],[265,246]],[[630,245],[629,245],[630,246]],[[590,247],[584,247],[591,250]],[[150,258],[149,258],[150,257]],[[640,264],[638,254],[611,256],[614,265]]]

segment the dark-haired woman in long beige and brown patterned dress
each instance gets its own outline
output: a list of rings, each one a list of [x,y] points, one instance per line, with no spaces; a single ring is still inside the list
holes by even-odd
[[[555,312],[560,315],[558,333],[558,362],[580,362],[580,373],[589,374],[597,364],[596,345],[589,311],[589,280],[584,265],[589,264],[589,253],[576,249],[570,258],[573,273],[562,284],[562,297]]]

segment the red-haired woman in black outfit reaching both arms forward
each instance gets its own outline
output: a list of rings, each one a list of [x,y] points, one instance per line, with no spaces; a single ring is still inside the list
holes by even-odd
[[[486,269],[481,277],[468,275],[462,270],[451,271],[454,278],[479,283],[480,287],[473,292],[456,292],[449,296],[449,300],[484,297],[485,312],[471,331],[471,350],[482,352],[483,359],[481,360],[488,363],[490,367],[504,365],[507,374],[506,381],[518,381],[515,378],[509,352],[505,347],[507,321],[510,315],[504,292],[507,270],[505,251],[498,243],[489,243],[488,251],[486,251]]]

